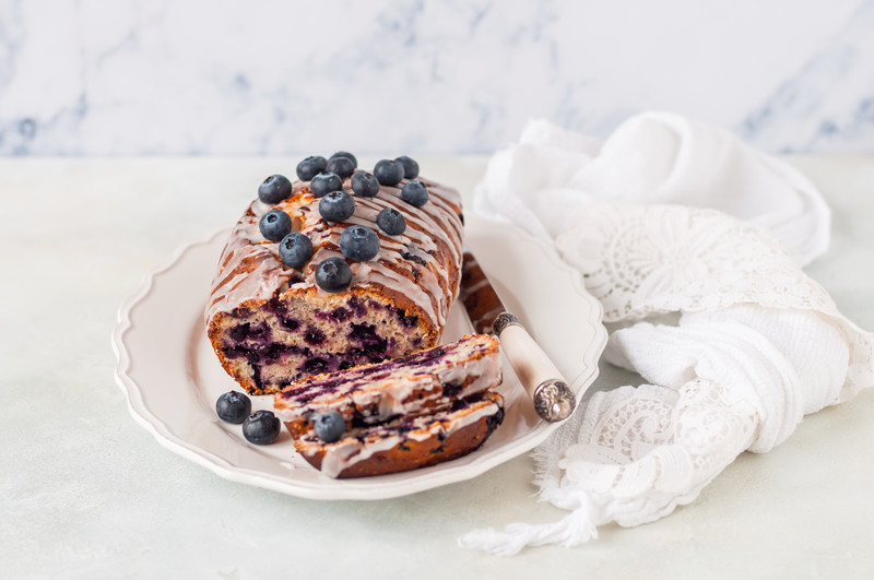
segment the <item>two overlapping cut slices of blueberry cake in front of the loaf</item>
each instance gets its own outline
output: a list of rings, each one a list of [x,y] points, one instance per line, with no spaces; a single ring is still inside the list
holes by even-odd
[[[498,343],[468,335],[309,377],[274,399],[295,449],[331,477],[406,471],[477,449],[504,419]]]

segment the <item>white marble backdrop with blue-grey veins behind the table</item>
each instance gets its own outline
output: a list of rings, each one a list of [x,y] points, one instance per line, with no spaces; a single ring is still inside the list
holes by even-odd
[[[640,110],[874,153],[874,0],[0,0],[0,154],[489,153]]]

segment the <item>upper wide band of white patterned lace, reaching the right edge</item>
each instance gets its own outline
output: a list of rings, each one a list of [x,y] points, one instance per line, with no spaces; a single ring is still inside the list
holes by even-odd
[[[556,247],[603,305],[605,322],[737,304],[814,310],[850,344],[841,400],[874,383],[872,335],[847,320],[766,229],[708,209],[594,203]]]

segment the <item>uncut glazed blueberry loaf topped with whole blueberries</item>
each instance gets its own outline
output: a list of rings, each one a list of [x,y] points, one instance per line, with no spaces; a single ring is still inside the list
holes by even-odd
[[[249,393],[437,344],[458,294],[461,200],[409,157],[307,157],[269,177],[233,228],[208,335]]]

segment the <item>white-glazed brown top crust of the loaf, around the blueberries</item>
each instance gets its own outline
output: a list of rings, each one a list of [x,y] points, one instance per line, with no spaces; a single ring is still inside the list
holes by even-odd
[[[368,262],[350,261],[353,272],[353,285],[380,284],[387,288],[399,292],[413,301],[427,316],[433,325],[439,329],[446,324],[446,316],[451,301],[458,293],[458,285],[449,287],[448,269],[441,267],[428,252],[437,251],[435,242],[437,237],[446,240],[456,271],[461,268],[461,239],[462,227],[456,206],[460,206],[460,196],[457,191],[421,179],[428,189],[428,202],[424,208],[414,208],[400,199],[400,188],[381,186],[375,198],[362,198],[353,194],[356,209],[350,223],[361,223],[371,227],[380,234],[380,251],[374,260]],[[304,189],[305,185],[295,182],[294,193]],[[344,184],[344,189],[350,190],[350,180]],[[282,208],[292,215],[300,230],[310,236],[315,252],[312,260],[306,269],[306,279],[291,285],[295,292],[311,291],[317,295],[328,297],[328,293],[318,287],[315,282],[315,267],[320,261],[339,252],[323,247],[326,244],[336,246],[339,232],[336,227],[320,232],[323,222],[318,213],[318,201],[309,196],[300,198],[304,203],[292,205],[281,202],[277,205],[268,205],[255,200],[250,205],[251,213],[247,212],[231,234],[228,242],[220,260],[220,273],[213,282],[211,299],[204,312],[209,321],[217,312],[229,312],[245,300],[270,299],[276,289],[288,284],[292,270],[286,268],[277,258],[277,244],[264,242],[258,228],[258,222],[267,211]],[[408,221],[408,228],[401,236],[386,236],[376,225],[377,213],[385,208],[394,208]],[[345,227],[345,226],[344,226]],[[401,251],[422,258],[426,263],[418,264],[404,259]],[[388,264],[401,268],[412,275],[413,268],[420,271],[417,282],[410,280]],[[246,265],[251,267],[247,270]],[[231,279],[221,277],[222,274]],[[442,286],[441,286],[442,281]],[[445,292],[442,287],[446,287]]]

